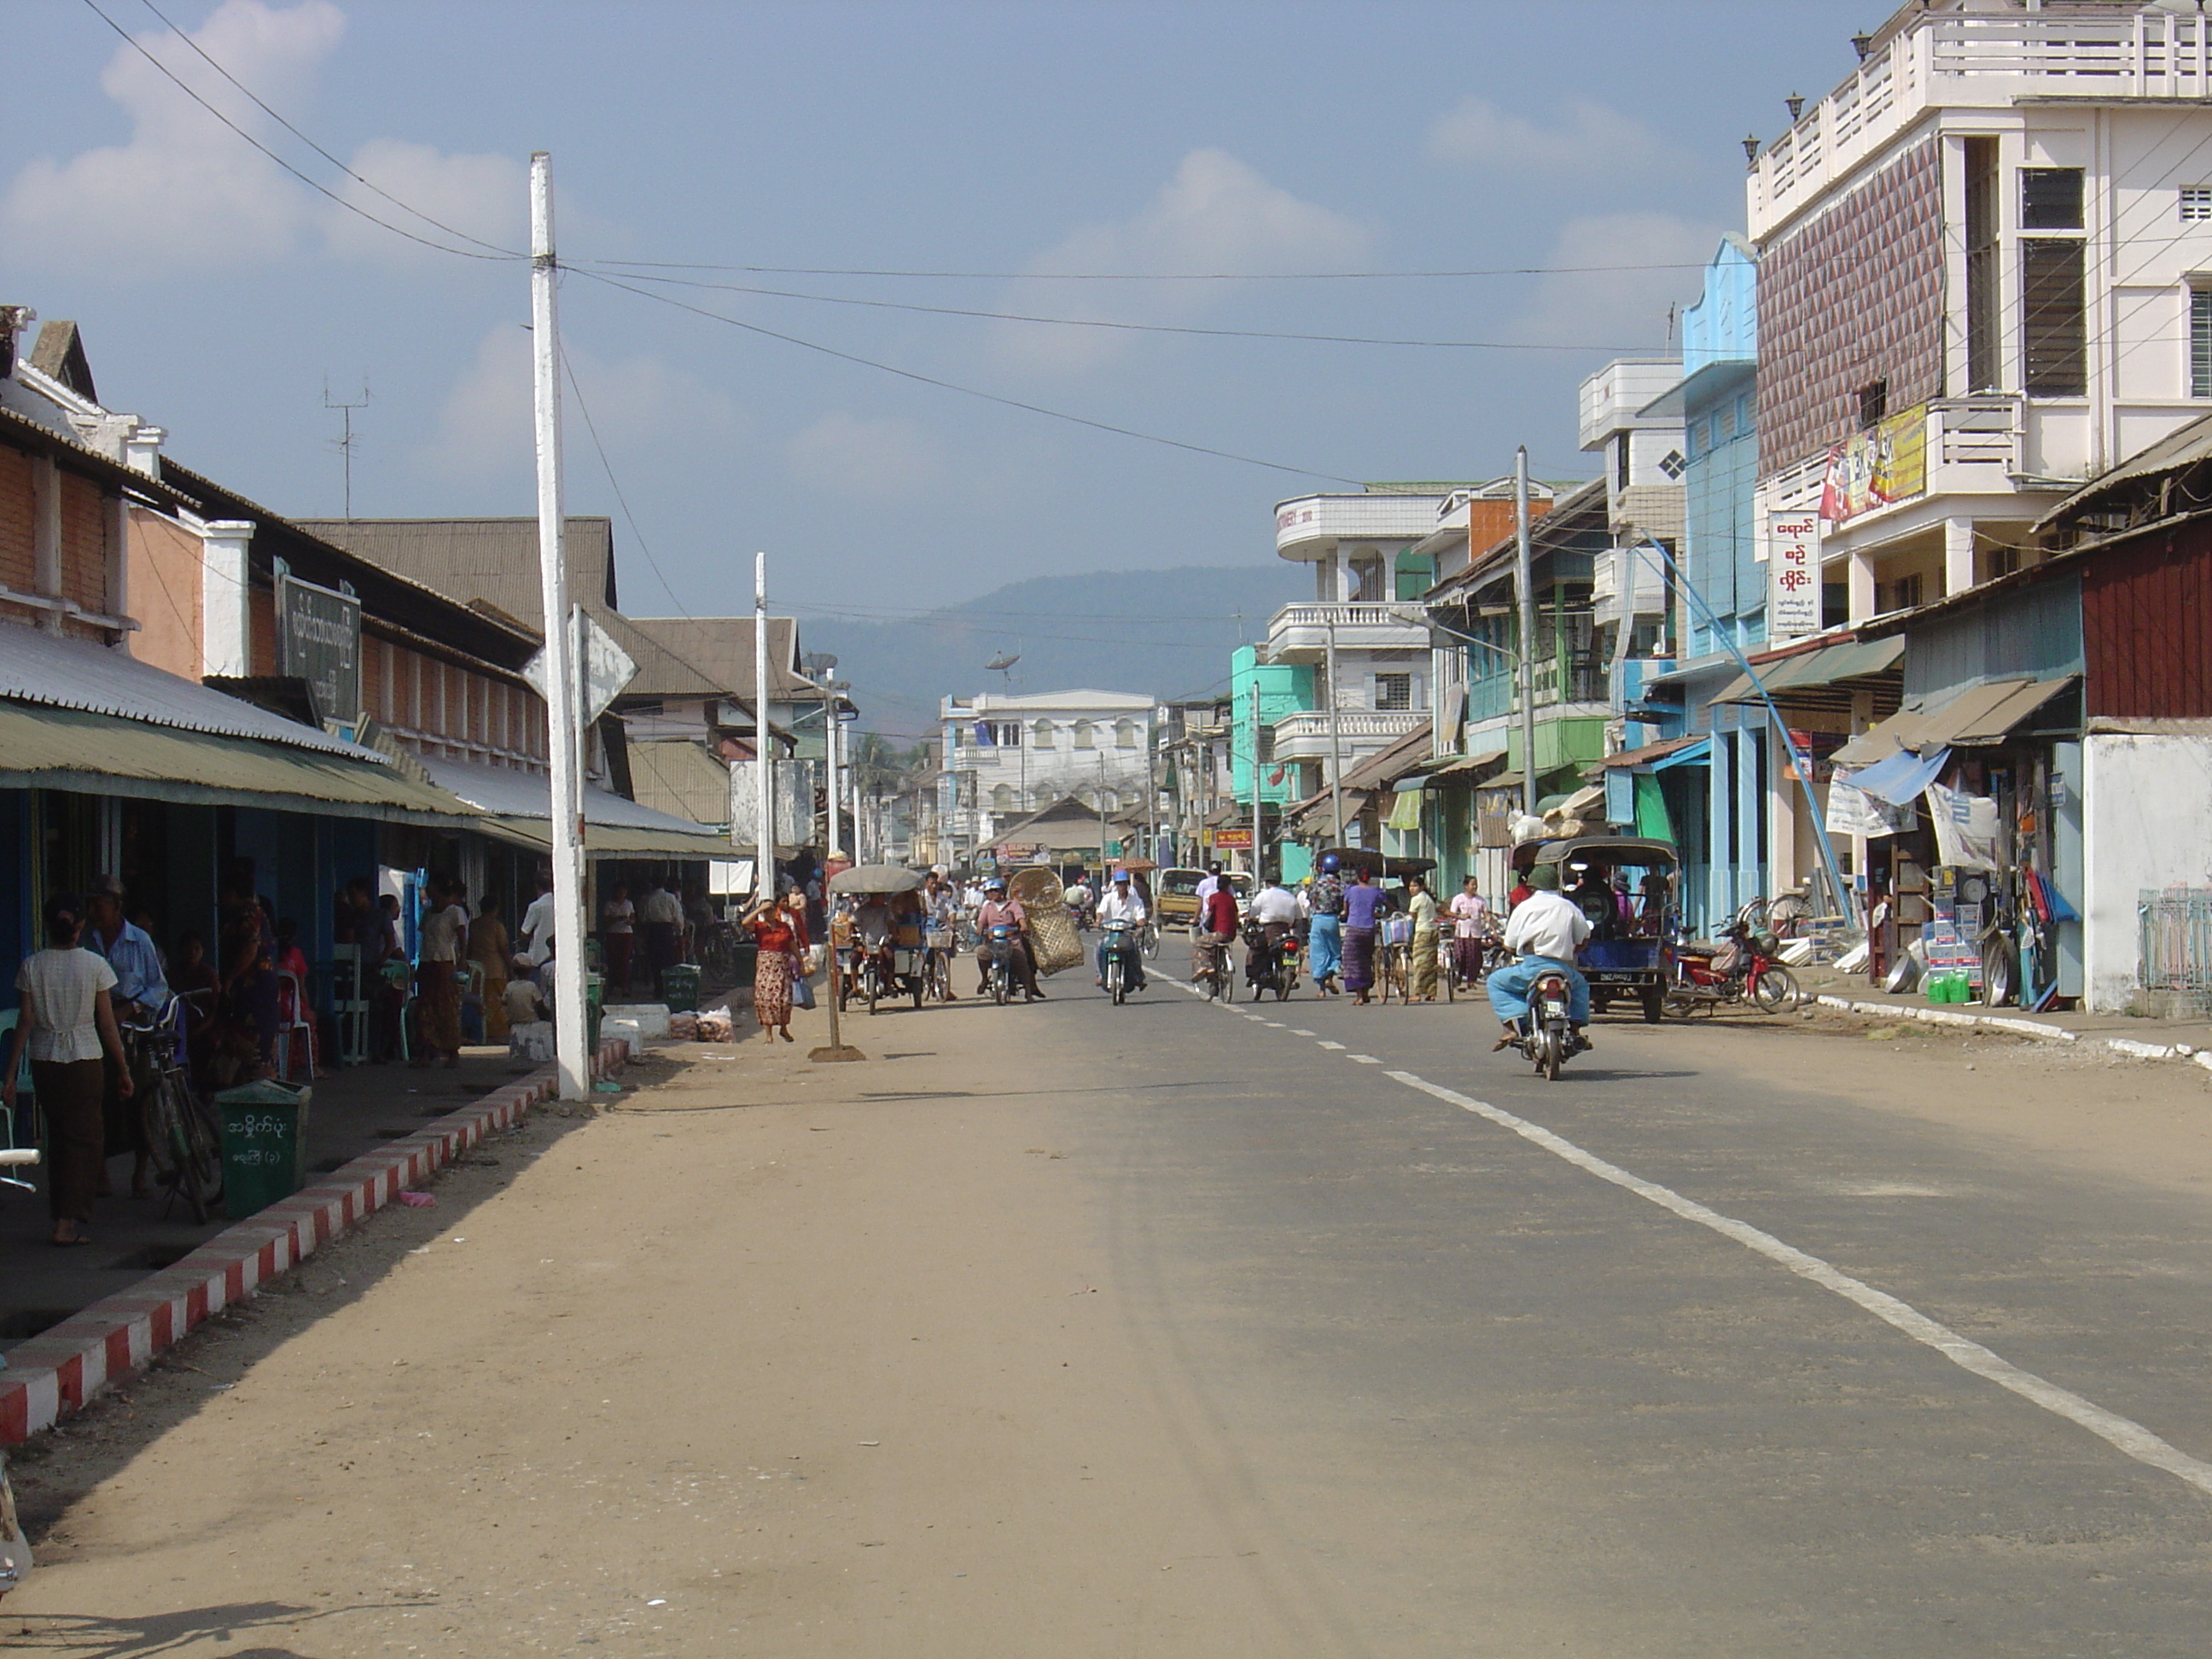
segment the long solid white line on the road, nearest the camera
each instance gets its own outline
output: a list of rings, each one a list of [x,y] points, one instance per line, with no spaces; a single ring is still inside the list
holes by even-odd
[[[2124,1418],[2117,1411],[2108,1411],[2095,1400],[2081,1398],[2073,1389],[2062,1389],[2057,1383],[2035,1376],[2035,1371],[2022,1371],[2002,1354],[1982,1347],[1980,1343],[1966,1336],[1960,1336],[1949,1325],[1929,1318],[1911,1303],[1898,1301],[1889,1292],[1876,1290],[1874,1285],[1860,1279],[1851,1279],[1840,1267],[1834,1267],[1832,1263],[1820,1261],[1818,1256],[1805,1254],[1796,1245],[1783,1243],[1772,1232],[1763,1232],[1754,1228],[1750,1221],[1736,1221],[1734,1217],[1725,1217],[1719,1210],[1710,1210],[1697,1199],[1681,1197],[1672,1188],[1663,1188],[1657,1181],[1646,1181],[1641,1175],[1630,1175],[1621,1166],[1608,1164],[1595,1152],[1586,1152],[1564,1135],[1553,1135],[1542,1124],[1531,1124],[1526,1117],[1515,1117],[1513,1113],[1500,1106],[1491,1106],[1489,1102],[1460,1095],[1451,1088],[1442,1088],[1411,1071],[1394,1071],[1387,1075],[1398,1079],[1407,1088],[1418,1088],[1420,1093],[1433,1095],[1436,1099],[1458,1106],[1460,1110],[1473,1113],[1475,1117],[1486,1117],[1491,1124],[1513,1130],[1524,1141],[1542,1146],[1553,1157],[1566,1159],[1577,1170],[1595,1175],[1599,1181],[1610,1181],[1613,1186],[1626,1192],[1635,1192],[1639,1199],[1657,1203],[1661,1210],[1679,1214],[1683,1221],[1694,1221],[1701,1228],[1719,1232],[1723,1239],[1732,1239],[1745,1250],[1765,1256],[1767,1261],[1781,1267],[1787,1267],[1798,1279],[1809,1279],[1823,1290],[1832,1290],[1834,1294],[1843,1296],[1847,1303],[1863,1307],[1885,1325],[1891,1325],[1911,1336],[1916,1343],[1936,1349],[1960,1369],[1973,1371],[1975,1376],[1995,1383],[2000,1389],[2008,1389],[2011,1394],[2017,1394],[2022,1400],[2031,1400],[2033,1405],[2039,1405],[2044,1411],[2051,1411],[2081,1429],[2088,1429],[2093,1436],[2097,1436],[2112,1449],[2135,1458],[2141,1464],[2148,1464],[2152,1469],[2163,1469],[2166,1473],[2185,1480],[2197,1491],[2212,1493],[2212,1464],[2201,1462],[2181,1451],[2179,1447],[2168,1444],[2150,1429],[2146,1429],[2141,1422]]]

